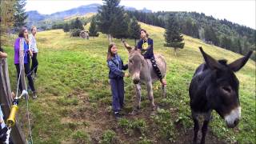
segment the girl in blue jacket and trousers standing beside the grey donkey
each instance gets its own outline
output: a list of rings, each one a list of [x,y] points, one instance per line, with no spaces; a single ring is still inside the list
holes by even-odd
[[[123,65],[122,58],[118,55],[118,47],[110,43],[107,52],[107,66],[110,68],[109,78],[112,92],[112,110],[115,118],[121,118],[120,110],[124,106],[124,81],[123,77],[128,74],[122,70],[127,70],[128,65]]]

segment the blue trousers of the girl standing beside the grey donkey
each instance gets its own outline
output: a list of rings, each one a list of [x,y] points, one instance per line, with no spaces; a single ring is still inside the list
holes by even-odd
[[[110,79],[110,86],[112,92],[112,109],[118,112],[124,104],[124,82],[123,78]]]

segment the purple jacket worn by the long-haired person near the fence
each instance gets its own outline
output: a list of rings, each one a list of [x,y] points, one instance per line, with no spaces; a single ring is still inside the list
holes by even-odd
[[[21,38],[17,38],[14,42],[14,64],[19,64],[19,48],[20,48],[20,39]],[[28,50],[29,50],[29,45],[26,44],[26,42],[24,42],[24,63],[28,63]]]

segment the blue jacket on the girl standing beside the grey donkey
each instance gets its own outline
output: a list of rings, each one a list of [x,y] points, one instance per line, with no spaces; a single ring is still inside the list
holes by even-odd
[[[110,68],[109,78],[111,79],[123,78],[125,73],[122,70],[128,69],[128,65],[123,65],[122,58],[118,54],[107,61],[107,66]]]

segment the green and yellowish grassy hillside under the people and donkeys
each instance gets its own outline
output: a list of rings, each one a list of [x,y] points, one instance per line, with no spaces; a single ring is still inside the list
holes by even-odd
[[[40,52],[35,86],[38,98],[30,99],[34,143],[188,143],[192,140],[188,86],[194,70],[203,62],[198,46],[214,58],[226,58],[229,62],[241,55],[185,36],[185,47],[178,50],[175,57],[173,50],[163,46],[162,28],[140,24],[154,39],[154,53],[163,54],[168,66],[166,98],[161,97],[160,82],[154,83],[158,114],[150,117],[145,86],[142,86],[141,113],[128,114],[135,92],[130,78],[125,78],[125,116],[119,122],[114,120],[105,34],[85,40],[70,38],[70,34],[62,30],[43,31],[37,35]],[[118,54],[127,62],[128,54],[121,41],[114,39],[114,42]],[[128,42],[134,45],[134,40]],[[12,90],[16,90],[14,50],[12,46],[4,48],[9,54]],[[240,80],[242,120],[238,127],[227,129],[225,122],[214,112],[206,142],[255,143],[255,63],[250,60],[236,75]],[[19,118],[27,134],[25,101],[20,106]]]

